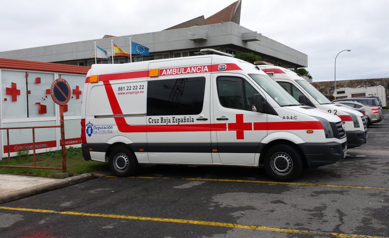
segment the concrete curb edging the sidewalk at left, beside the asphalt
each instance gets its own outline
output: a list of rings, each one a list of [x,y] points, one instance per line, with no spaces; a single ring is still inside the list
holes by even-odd
[[[48,182],[46,184],[41,184],[41,185],[36,185],[25,189],[11,191],[8,193],[4,193],[0,196],[0,204],[21,199],[24,197],[40,194],[40,193],[45,193],[55,189],[64,188],[70,185],[75,185],[80,182],[88,181],[94,178],[95,176],[93,174],[81,174],[74,177],[68,177],[57,181]]]

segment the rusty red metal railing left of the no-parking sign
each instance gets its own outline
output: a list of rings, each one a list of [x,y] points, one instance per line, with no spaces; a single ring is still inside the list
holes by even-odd
[[[58,128],[58,127],[61,127],[62,167],[55,168],[55,167],[40,167],[40,166],[36,166],[35,129]],[[32,149],[33,149],[34,166],[11,166],[10,144],[9,144],[9,130],[20,130],[20,129],[32,129]],[[0,130],[7,130],[7,153],[8,153],[8,165],[0,165],[0,167],[62,170],[63,173],[66,173],[65,133],[64,133],[62,125],[3,127],[3,128],[0,127]]]

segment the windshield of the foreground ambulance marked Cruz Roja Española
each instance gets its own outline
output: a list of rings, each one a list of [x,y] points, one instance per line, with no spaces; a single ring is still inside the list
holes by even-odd
[[[254,75],[249,76],[262,87],[269,96],[274,99],[280,106],[294,106],[300,105],[290,94],[285,91],[278,83],[272,80],[267,75]]]

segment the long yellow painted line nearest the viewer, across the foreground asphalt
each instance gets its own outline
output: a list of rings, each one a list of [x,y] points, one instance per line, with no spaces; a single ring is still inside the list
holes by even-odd
[[[326,236],[332,235],[335,237],[343,237],[343,238],[389,238],[385,236],[344,234],[344,233],[335,233],[335,232],[297,230],[297,229],[286,229],[286,228],[266,227],[266,226],[256,226],[256,225],[244,225],[244,224],[237,224],[237,223],[208,222],[208,221],[196,221],[196,220],[189,220],[189,219],[174,219],[174,218],[161,218],[161,217],[149,217],[149,216],[127,216],[127,215],[99,214],[99,213],[72,212],[72,211],[58,212],[53,210],[12,208],[12,207],[0,207],[0,209],[13,210],[13,211],[40,212],[40,213],[55,213],[55,214],[76,215],[76,216],[94,216],[94,217],[107,217],[107,218],[117,218],[117,219],[132,219],[132,220],[153,221],[153,222],[184,223],[184,224],[204,225],[204,226],[274,231],[274,232],[292,233],[292,234],[326,235]]]

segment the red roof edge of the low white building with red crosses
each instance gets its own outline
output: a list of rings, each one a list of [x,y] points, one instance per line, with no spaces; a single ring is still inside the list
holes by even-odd
[[[0,58],[0,68],[66,72],[86,75],[90,67]]]

